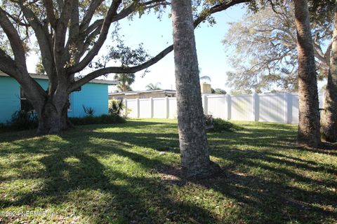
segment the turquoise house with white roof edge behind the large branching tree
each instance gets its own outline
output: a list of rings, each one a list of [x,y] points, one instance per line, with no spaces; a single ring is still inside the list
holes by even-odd
[[[37,83],[45,90],[48,88],[48,76],[30,74]],[[83,117],[83,106],[92,107],[95,110],[95,116],[107,114],[108,112],[108,86],[117,85],[117,81],[94,79],[83,85],[79,92],[70,94],[70,109],[68,116]],[[30,104],[25,98],[20,84],[14,79],[0,72],[0,123],[6,123],[11,119],[15,111],[21,109],[30,109]]]

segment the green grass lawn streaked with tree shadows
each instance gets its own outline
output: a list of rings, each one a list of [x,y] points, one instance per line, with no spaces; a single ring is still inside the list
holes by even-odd
[[[209,133],[223,174],[176,174],[176,120],[0,134],[0,223],[337,223],[337,150],[296,148],[296,126]],[[162,153],[165,152],[165,153]]]

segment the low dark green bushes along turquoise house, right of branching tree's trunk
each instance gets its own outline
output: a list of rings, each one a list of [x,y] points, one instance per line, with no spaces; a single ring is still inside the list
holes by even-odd
[[[124,118],[120,116],[111,116],[104,114],[102,116],[85,116],[83,118],[69,118],[74,125],[104,125],[104,124],[117,124],[126,123]]]

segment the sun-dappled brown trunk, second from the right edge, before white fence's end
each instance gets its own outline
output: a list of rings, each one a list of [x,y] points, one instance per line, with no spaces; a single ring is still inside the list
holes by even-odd
[[[317,148],[319,134],[319,102],[315,56],[312,45],[307,0],[295,0],[298,48],[298,144]]]

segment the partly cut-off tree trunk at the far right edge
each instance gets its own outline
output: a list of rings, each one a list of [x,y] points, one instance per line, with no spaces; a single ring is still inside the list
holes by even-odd
[[[335,24],[333,29],[330,68],[324,111],[322,114],[322,137],[329,142],[337,141],[337,1],[335,6]]]

